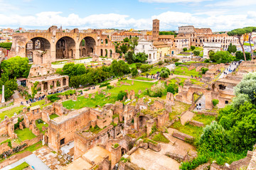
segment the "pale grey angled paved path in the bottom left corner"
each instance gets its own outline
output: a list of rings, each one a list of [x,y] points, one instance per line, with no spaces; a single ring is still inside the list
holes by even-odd
[[[36,154],[31,154],[28,157],[20,159],[18,162],[10,164],[9,166],[5,166],[1,170],[13,169],[14,167],[18,166],[19,164],[22,164],[23,162],[26,162],[29,165],[33,166],[33,168],[36,170],[50,170],[49,167],[46,166],[46,164],[43,164],[43,162],[38,157],[36,157]]]

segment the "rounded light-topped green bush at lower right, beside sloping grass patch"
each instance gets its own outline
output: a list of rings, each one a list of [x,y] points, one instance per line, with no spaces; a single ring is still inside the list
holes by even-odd
[[[206,128],[198,141],[199,148],[204,152],[225,152],[228,147],[228,134],[217,122],[213,121]]]

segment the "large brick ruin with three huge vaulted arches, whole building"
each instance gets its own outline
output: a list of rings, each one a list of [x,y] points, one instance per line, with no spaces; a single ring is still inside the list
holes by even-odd
[[[17,33],[9,57],[28,57],[33,64],[48,64],[60,60],[75,60],[80,57],[119,57],[114,45],[101,30],[80,33],[78,28],[65,33],[51,26],[43,33]]]

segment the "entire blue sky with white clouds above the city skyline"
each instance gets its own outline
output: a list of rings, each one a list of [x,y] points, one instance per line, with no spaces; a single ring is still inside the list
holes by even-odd
[[[212,30],[256,26],[256,0],[0,0],[0,28],[135,28],[193,25]]]

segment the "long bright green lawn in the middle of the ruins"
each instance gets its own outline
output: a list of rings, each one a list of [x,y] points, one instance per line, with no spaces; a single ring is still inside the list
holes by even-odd
[[[132,84],[132,80],[123,80],[123,82]],[[153,84],[155,83],[134,81],[134,85],[132,86],[122,85],[121,87],[118,87],[120,86],[120,82],[118,81],[117,87],[114,87],[114,89],[106,90],[107,93],[112,94],[110,96],[110,99],[105,98],[105,95],[103,94],[100,94],[100,95],[95,94],[95,98],[85,98],[84,96],[80,96],[78,97],[77,101],[70,100],[70,101],[63,102],[63,106],[68,109],[72,109],[72,108],[80,109],[85,107],[95,108],[95,106],[97,105],[104,106],[107,103],[114,103],[115,101],[117,101],[117,94],[119,93],[119,91],[134,90],[135,94],[138,94],[139,90],[142,90],[143,92],[146,88],[150,89]],[[89,96],[91,95],[92,94],[90,94]]]

